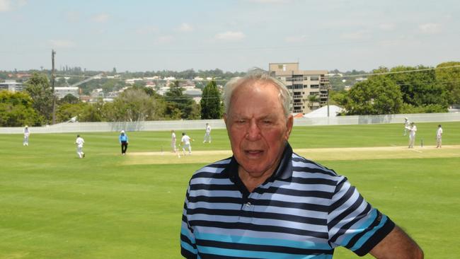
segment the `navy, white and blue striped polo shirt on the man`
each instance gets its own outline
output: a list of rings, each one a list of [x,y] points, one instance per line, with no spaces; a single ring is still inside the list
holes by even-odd
[[[332,258],[336,246],[364,255],[393,227],[347,178],[287,144],[275,173],[253,192],[234,157],[196,171],[180,247],[185,258]]]

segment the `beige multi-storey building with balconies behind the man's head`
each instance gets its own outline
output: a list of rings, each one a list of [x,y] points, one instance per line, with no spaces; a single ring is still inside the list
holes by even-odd
[[[327,70],[299,70],[299,63],[270,63],[270,75],[286,84],[292,113],[310,113],[328,103]]]

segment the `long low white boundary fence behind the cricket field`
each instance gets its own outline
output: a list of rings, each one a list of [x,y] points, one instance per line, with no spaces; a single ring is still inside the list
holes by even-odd
[[[294,126],[319,125],[362,125],[381,123],[403,123],[404,117],[411,122],[454,122],[460,121],[460,113],[418,113],[396,115],[360,115],[338,117],[316,117],[294,119]],[[168,131],[204,129],[209,123],[213,129],[224,129],[224,120],[162,120],[149,122],[67,122],[46,127],[30,127],[33,133],[65,133],[65,132],[118,132],[127,131]],[[0,127],[0,134],[20,134],[23,127]]]

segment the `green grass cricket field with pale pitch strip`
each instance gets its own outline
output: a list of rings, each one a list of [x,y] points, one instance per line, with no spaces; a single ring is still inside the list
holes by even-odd
[[[413,150],[402,125],[295,127],[290,142],[347,175],[425,258],[456,258],[460,122],[442,125],[442,149],[433,147],[437,123],[418,124]],[[224,129],[213,130],[212,144],[202,144],[204,130],[188,134],[194,154],[180,159],[169,132],[128,132],[127,156],[116,132],[84,133],[85,159],[77,159],[76,134],[32,134],[28,147],[21,134],[0,134],[0,258],[180,258],[188,180],[231,154]],[[335,258],[356,256],[338,248]]]

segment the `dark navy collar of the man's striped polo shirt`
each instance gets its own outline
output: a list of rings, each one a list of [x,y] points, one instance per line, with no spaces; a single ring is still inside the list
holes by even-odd
[[[238,161],[236,161],[235,156],[231,156],[230,163],[224,168],[222,173],[225,173],[232,182],[236,182],[238,176]],[[286,143],[284,151],[282,153],[280,164],[275,169],[268,180],[272,181],[276,178],[287,179],[292,176],[292,147],[289,142]]]

